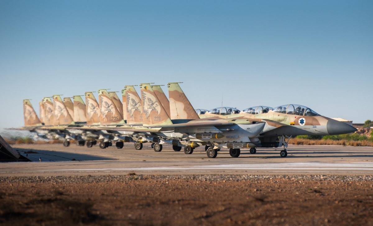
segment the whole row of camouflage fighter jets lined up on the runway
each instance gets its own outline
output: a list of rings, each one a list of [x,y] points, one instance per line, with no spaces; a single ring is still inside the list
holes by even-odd
[[[172,145],[174,151],[184,148],[192,154],[194,148],[205,146],[207,156],[215,158],[220,148],[229,148],[238,157],[241,148],[281,147],[281,157],[287,156],[288,140],[297,135],[329,135],[352,133],[348,124],[317,114],[302,105],[282,105],[276,108],[255,106],[239,111],[219,107],[210,111],[195,110],[179,83],[168,83],[169,99],[160,85],[140,84],[140,96],[134,86],[125,86],[122,101],[116,92],[98,90],[81,96],[44,97],[39,103],[40,118],[30,100],[23,100],[25,127],[46,139],[62,139],[64,146],[76,140],[81,146],[123,148],[123,142],[134,142],[136,149],[151,142],[154,151],[162,145]]]

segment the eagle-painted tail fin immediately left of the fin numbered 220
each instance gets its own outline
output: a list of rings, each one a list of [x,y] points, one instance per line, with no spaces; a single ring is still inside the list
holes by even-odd
[[[123,93],[125,95],[125,113],[127,124],[142,124],[142,105],[140,96],[137,94],[134,86],[125,86]]]

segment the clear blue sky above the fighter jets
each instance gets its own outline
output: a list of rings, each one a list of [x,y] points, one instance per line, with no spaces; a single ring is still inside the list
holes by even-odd
[[[22,99],[182,81],[195,108],[373,120],[373,1],[0,1],[0,128]],[[165,92],[167,93],[166,87]]]

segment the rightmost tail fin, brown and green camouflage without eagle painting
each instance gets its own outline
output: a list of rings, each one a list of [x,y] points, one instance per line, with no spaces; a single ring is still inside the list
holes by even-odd
[[[186,98],[179,83],[167,84],[170,98],[171,119],[199,119],[192,104]]]

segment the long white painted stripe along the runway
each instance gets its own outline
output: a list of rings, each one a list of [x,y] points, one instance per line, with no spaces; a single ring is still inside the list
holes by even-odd
[[[295,162],[295,163],[267,163],[267,164],[221,164],[221,165],[194,165],[190,167],[165,166],[165,167],[138,167],[138,168],[91,168],[91,169],[59,169],[51,171],[185,171],[185,170],[291,170],[295,172],[304,172],[309,170],[317,171],[373,171],[373,163],[319,163],[319,162]]]

